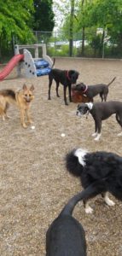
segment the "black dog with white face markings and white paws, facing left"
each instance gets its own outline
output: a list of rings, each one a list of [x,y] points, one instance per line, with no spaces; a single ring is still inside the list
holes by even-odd
[[[101,137],[102,120],[109,118],[113,113],[116,114],[116,120],[122,128],[122,102],[90,102],[78,104],[76,112],[78,116],[88,113],[91,113],[95,120],[95,133],[93,133],[92,136],[96,136],[96,141]],[[122,131],[118,136],[121,135]]]

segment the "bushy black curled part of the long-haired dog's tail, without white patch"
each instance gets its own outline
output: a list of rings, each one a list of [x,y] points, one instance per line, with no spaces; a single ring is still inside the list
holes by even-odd
[[[78,157],[75,155],[76,149],[73,149],[66,155],[66,168],[67,171],[73,174],[73,176],[80,177],[83,166],[79,164]]]

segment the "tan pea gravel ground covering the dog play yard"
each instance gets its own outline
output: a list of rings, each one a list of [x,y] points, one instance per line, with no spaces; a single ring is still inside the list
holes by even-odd
[[[78,70],[78,81],[84,84],[108,83],[116,76],[107,100],[122,100],[122,61],[57,58],[55,67]],[[0,83],[0,90],[17,90],[24,82],[35,86],[31,109],[35,130],[20,126],[20,113],[14,106],[9,108],[11,119],[0,119],[1,256],[45,255],[49,224],[82,189],[79,179],[66,171],[68,150],[82,147],[122,155],[122,137],[117,137],[120,127],[114,116],[103,122],[102,138],[95,142],[93,119],[78,118],[76,103],[64,105],[62,86],[61,98],[57,98],[53,83],[52,100],[48,101],[48,76],[17,78],[14,70]],[[95,101],[100,98],[96,96]],[[93,214],[85,214],[82,202],[74,209],[74,217],[84,226],[88,256],[122,255],[122,202],[113,201],[115,206],[107,207],[97,196],[90,201]]]

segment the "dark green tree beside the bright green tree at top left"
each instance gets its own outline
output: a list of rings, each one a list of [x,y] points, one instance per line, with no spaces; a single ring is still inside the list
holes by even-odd
[[[52,5],[52,0],[34,0],[35,13],[32,26],[33,30],[52,32],[55,26],[55,15],[52,9]]]

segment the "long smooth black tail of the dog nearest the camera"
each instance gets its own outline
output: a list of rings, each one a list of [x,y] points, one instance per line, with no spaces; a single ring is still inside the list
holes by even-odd
[[[87,200],[96,195],[99,195],[104,191],[104,188],[105,188],[105,179],[92,183],[87,189],[84,189],[82,192],[79,192],[77,195],[74,195],[67,202],[67,205],[62,209],[60,215],[72,215],[73,209],[78,203],[78,201]]]

